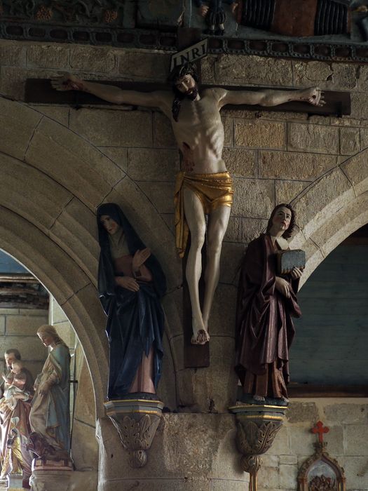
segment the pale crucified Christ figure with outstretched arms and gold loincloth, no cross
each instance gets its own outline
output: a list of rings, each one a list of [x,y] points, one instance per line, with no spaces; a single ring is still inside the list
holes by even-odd
[[[196,67],[179,65],[169,76],[174,94],[169,90],[144,93],[122,90],[116,86],[88,82],[66,74],[53,79],[56,90],[81,90],[115,104],[158,107],[172,124],[177,145],[182,152],[182,171],[175,191],[175,226],[177,248],[183,257],[186,241],[191,245],[186,262],[186,280],[192,308],[192,344],[209,341],[208,320],[214,292],[219,282],[222,240],[228,226],[233,186],[225,162],[224,126],[220,109],[225,105],[261,105],[272,107],[289,101],[304,101],[318,106],[325,104],[320,88],[299,90],[227,90],[222,87],[200,91]],[[207,265],[205,295],[200,307],[198,283],[202,274],[201,250],[207,224]]]

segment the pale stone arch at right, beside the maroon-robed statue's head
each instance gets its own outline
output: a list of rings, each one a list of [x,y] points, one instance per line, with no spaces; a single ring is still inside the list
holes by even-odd
[[[341,241],[368,222],[368,149],[315,180],[292,205],[299,232],[291,247],[306,250],[305,283]]]

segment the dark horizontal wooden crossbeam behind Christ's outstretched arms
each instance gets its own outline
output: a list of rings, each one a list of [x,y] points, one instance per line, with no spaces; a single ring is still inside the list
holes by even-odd
[[[153,92],[154,90],[170,90],[167,84],[149,82],[121,82],[121,81],[96,81],[114,85],[123,90],[139,90],[141,92]],[[217,87],[215,85],[201,85],[201,89]],[[251,90],[256,91],[258,87],[222,86],[229,90]],[[275,88],[274,90],[283,90]],[[295,89],[297,90],[297,89]],[[279,106],[263,107],[259,105],[227,105],[226,109],[272,111],[272,112],[302,112],[308,114],[319,114],[320,116],[348,116],[351,113],[351,100],[349,92],[338,92],[336,90],[324,90],[326,104],[315,107],[308,102],[286,102]],[[114,106],[112,102],[99,99],[95,95],[78,90],[60,92],[52,88],[50,79],[27,79],[25,84],[25,102],[28,104],[53,104],[71,105],[80,107],[84,105]]]

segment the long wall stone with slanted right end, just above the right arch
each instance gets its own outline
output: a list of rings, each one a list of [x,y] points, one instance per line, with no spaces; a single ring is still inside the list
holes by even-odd
[[[336,156],[305,152],[259,152],[259,177],[315,180],[336,166]]]

